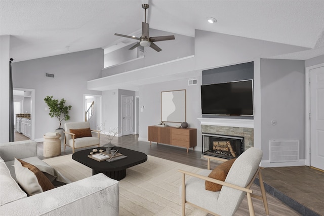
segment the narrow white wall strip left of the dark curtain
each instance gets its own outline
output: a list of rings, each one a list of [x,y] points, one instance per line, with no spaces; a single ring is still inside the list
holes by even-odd
[[[0,143],[9,142],[10,36],[0,35]]]

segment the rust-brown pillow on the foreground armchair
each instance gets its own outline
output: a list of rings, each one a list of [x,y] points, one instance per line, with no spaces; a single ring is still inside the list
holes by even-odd
[[[235,159],[236,158],[225,161],[222,164],[218,165],[209,174],[208,177],[224,182],[225,179],[226,179],[226,176],[228,174],[228,171],[231,168],[231,166],[233,165]],[[219,184],[216,184],[216,183],[213,183],[213,182],[208,182],[208,181],[205,182],[205,187],[206,187],[206,190],[209,190],[209,191],[220,191],[222,189],[222,185],[219,185]]]

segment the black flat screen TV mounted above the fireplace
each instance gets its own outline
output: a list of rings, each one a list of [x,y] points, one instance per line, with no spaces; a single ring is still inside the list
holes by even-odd
[[[253,116],[253,80],[201,85],[203,115]]]

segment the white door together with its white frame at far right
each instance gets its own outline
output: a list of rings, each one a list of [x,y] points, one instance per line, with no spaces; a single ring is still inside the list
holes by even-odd
[[[324,64],[307,69],[306,165],[324,170]]]

